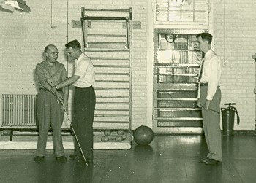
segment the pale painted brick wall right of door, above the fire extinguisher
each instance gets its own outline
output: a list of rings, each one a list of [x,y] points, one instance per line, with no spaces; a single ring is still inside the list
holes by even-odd
[[[250,0],[215,1],[215,51],[225,61],[222,106],[236,103],[241,118],[237,130],[252,130],[255,124],[255,9]]]

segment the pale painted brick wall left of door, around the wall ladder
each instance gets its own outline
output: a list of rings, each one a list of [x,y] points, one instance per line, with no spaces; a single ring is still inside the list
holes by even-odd
[[[0,93],[37,93],[34,68],[42,61],[42,52],[47,44],[56,44],[59,48],[59,61],[64,63],[69,76],[72,75],[72,63],[67,62],[64,44],[72,39],[82,42],[81,29],[72,28],[72,21],[80,20],[81,7],[105,9],[132,7],[133,20],[140,21],[142,25],[141,29],[134,30],[132,35],[132,128],[146,125],[147,1],[73,0],[67,3],[67,1],[55,0],[53,2],[53,24],[56,28],[51,28],[50,1],[27,0],[26,4],[31,8],[29,14],[0,11]],[[69,104],[71,106],[72,102],[69,101]]]

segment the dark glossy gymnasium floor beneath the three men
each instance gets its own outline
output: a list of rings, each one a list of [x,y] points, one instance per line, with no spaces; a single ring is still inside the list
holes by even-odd
[[[155,136],[150,146],[132,142],[130,150],[95,150],[89,166],[56,162],[48,150],[34,162],[34,150],[1,150],[0,182],[256,182],[256,136],[223,137],[223,162],[199,163],[206,155],[203,136]],[[66,150],[72,155],[72,150]]]

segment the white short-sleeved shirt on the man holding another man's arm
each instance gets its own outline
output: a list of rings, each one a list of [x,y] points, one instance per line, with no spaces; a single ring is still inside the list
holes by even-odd
[[[84,53],[75,61],[75,76],[80,78],[73,83],[75,87],[90,87],[95,82],[94,65]]]

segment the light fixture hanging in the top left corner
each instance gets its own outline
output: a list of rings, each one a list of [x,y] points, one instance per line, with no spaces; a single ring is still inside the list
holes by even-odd
[[[18,9],[21,12],[30,12],[30,7],[26,5],[26,1],[23,0],[15,0],[15,1],[9,1],[5,0],[1,2],[1,8],[7,9],[11,12],[14,11],[14,9]]]

